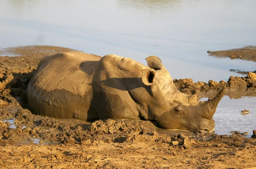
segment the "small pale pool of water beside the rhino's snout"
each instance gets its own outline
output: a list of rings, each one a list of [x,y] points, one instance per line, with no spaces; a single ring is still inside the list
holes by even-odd
[[[215,133],[228,134],[230,131],[249,132],[249,137],[256,130],[256,97],[244,96],[242,99],[230,99],[224,96],[213,116]],[[250,113],[242,115],[242,110]]]

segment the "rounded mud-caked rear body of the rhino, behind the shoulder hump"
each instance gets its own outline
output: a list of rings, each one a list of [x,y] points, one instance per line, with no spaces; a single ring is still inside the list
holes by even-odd
[[[73,51],[46,56],[29,82],[28,102],[33,113],[55,118],[93,120],[88,115],[92,77],[101,56]]]

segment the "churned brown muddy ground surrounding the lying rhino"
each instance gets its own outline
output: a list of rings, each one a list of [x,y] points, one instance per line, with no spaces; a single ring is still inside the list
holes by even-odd
[[[19,56],[0,56],[1,169],[256,167],[256,130],[252,138],[247,138],[239,132],[233,135],[174,133],[159,130],[151,121],[108,119],[89,123],[33,115],[27,109],[26,87],[38,62],[47,54],[72,50],[26,46],[4,51]],[[251,94],[256,90],[255,77],[249,73],[245,78],[232,76],[228,82],[220,83],[212,80],[195,83],[192,79],[174,82],[187,94],[203,96],[224,85],[227,93],[236,89]]]

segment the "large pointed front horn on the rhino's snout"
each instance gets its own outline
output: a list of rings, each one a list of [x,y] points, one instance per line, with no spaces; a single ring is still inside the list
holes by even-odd
[[[208,101],[205,101],[202,105],[204,109],[204,118],[212,118],[214,115],[218,103],[221,101],[221,98],[224,96],[226,85],[216,94],[216,96]]]

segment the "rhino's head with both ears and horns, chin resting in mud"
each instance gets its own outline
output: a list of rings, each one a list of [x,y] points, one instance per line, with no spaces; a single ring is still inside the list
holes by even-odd
[[[225,87],[208,101],[198,101],[194,94],[188,96],[175,87],[172,77],[156,56],[146,58],[148,67],[142,70],[142,81],[150,87],[154,101],[148,105],[154,120],[166,129],[206,130],[215,129],[212,119],[224,95]]]

